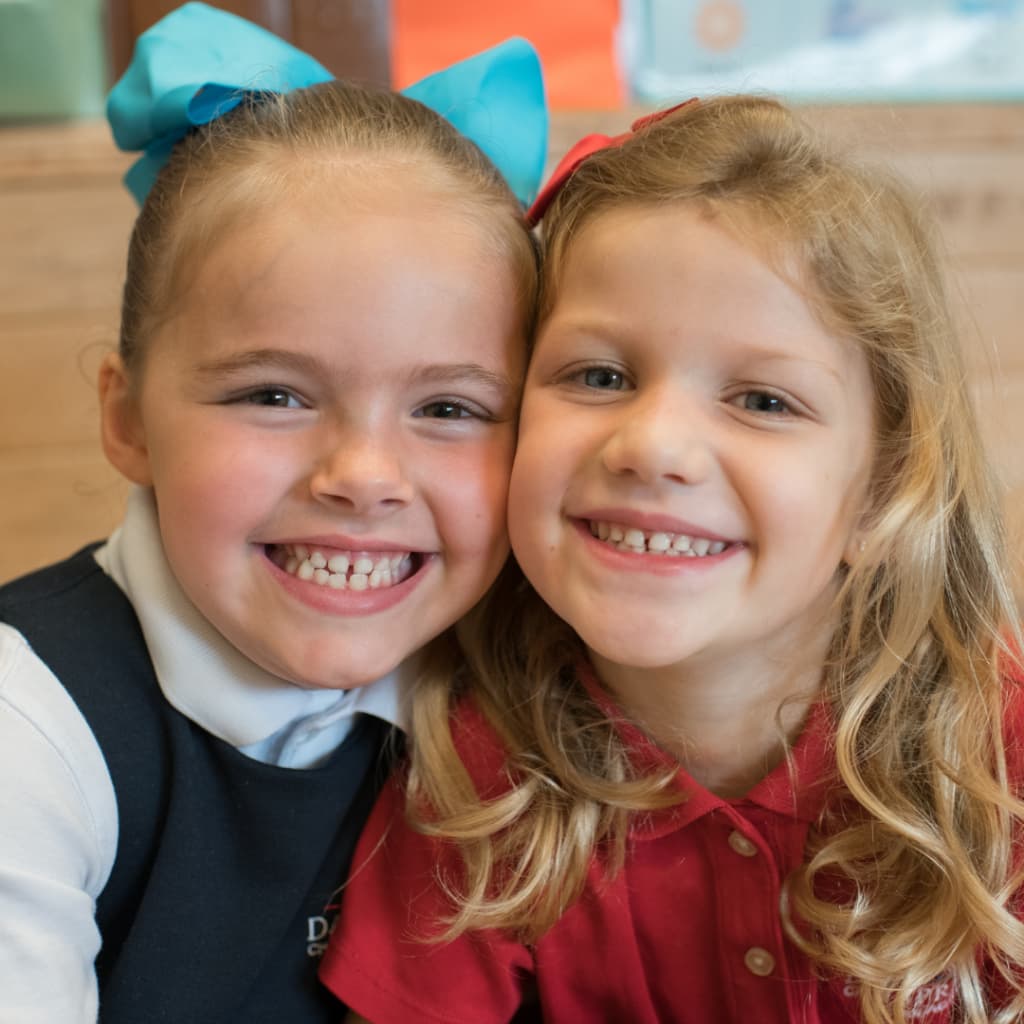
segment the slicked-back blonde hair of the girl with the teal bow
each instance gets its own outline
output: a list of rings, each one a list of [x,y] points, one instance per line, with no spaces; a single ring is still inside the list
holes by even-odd
[[[440,200],[453,220],[469,218],[484,230],[510,262],[528,330],[536,245],[498,169],[423,103],[331,81],[284,94],[247,94],[174,146],[129,243],[119,343],[125,366],[139,369],[154,330],[204,253],[233,224],[311,188],[366,203],[387,170],[408,173],[424,201]],[[346,193],[349,184],[357,187]]]

